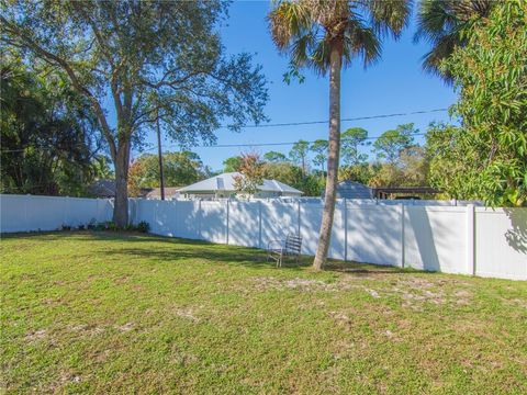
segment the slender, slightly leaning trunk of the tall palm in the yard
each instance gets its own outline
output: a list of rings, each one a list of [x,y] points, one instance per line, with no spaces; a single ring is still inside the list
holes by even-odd
[[[338,155],[340,150],[340,68],[341,42],[332,45],[329,66],[329,148],[327,157],[326,193],[321,234],[313,267],[321,270],[327,259],[332,240],[333,214],[337,195]]]

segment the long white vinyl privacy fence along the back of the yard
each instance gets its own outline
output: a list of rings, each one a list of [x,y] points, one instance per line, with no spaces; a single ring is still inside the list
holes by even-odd
[[[1,232],[111,219],[112,201],[1,195]],[[406,203],[406,202],[405,202]],[[288,233],[314,255],[321,202],[131,200],[131,218],[157,235],[266,248]],[[329,256],[447,273],[527,280],[527,208],[338,201]]]

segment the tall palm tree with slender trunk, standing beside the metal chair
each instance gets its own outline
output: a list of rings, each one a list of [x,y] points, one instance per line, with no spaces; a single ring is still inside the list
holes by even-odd
[[[380,58],[381,40],[399,37],[411,0],[279,1],[268,15],[272,40],[288,54],[294,70],[329,72],[329,151],[318,248],[313,266],[322,269],[329,248],[340,146],[340,70],[361,58],[365,66]]]

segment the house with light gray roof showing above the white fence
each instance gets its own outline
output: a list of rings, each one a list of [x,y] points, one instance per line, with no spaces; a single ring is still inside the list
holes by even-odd
[[[231,198],[236,195],[235,178],[243,177],[240,172],[227,172],[180,188],[180,195],[187,198]],[[302,195],[302,191],[277,180],[264,180],[254,198],[280,198]]]

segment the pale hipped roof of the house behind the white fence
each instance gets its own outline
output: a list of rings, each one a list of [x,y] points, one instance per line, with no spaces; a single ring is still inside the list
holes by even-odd
[[[217,192],[227,191],[234,192],[235,178],[243,176],[240,172],[228,172],[220,176],[211,177],[206,180],[195,182],[179,189],[179,192]],[[291,194],[302,194],[302,191],[294,189],[283,182],[277,180],[264,180],[264,183],[258,188],[261,192],[285,192]]]

